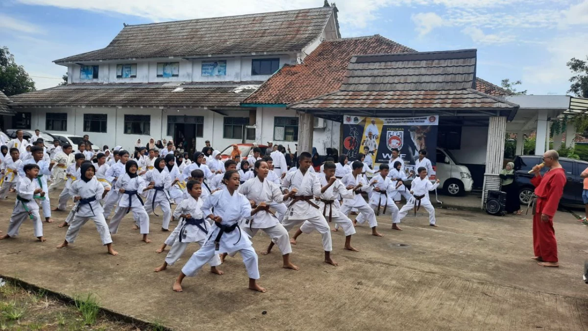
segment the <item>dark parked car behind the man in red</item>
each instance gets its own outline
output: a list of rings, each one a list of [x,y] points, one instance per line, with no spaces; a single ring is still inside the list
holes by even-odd
[[[522,155],[515,158],[515,181],[519,186],[519,200],[521,204],[527,205],[529,203],[529,199],[533,196],[535,189],[533,184],[531,184],[531,178],[534,177],[534,174],[529,174],[529,170],[542,162],[542,157],[539,155]],[[567,178],[560,203],[584,204],[582,201],[584,178],[580,177],[580,174],[584,169],[588,168],[588,162],[562,157],[559,159],[559,163],[562,165],[563,170],[566,171]],[[547,170],[549,170],[547,167],[543,167],[540,173],[544,174]]]

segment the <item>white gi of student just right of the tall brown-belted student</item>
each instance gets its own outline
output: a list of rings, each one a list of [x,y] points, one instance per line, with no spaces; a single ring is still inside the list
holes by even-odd
[[[325,176],[319,177],[320,186],[325,187],[328,183]],[[340,180],[335,180],[335,183],[331,185],[325,193],[319,194],[319,198],[321,200],[329,200],[333,201],[333,203],[326,204],[325,202],[319,200],[316,202],[319,206],[319,210],[323,213],[326,220],[329,220],[329,214],[331,216],[331,221],[335,222],[335,226],[339,229],[339,226],[343,228],[343,233],[345,236],[350,236],[355,234],[355,227],[353,226],[353,222],[347,217],[345,214],[341,213],[340,205],[339,205],[339,197],[342,198],[353,198],[353,191],[348,190]],[[309,226],[312,226],[309,222],[305,221],[302,223],[300,227],[300,231],[305,232]],[[304,228],[304,229],[303,229]],[[312,230],[310,230],[312,231]]]

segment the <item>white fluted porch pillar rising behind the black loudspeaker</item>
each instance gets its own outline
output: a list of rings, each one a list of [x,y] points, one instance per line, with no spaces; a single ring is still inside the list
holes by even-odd
[[[500,190],[500,170],[505,155],[506,117],[492,116],[488,124],[488,143],[486,147],[486,171],[482,189],[482,208],[488,191]]]

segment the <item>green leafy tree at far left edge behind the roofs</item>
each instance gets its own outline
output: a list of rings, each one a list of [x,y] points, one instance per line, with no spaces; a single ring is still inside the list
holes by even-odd
[[[8,47],[0,48],[0,91],[8,97],[35,91],[35,82],[22,65],[17,65]]]

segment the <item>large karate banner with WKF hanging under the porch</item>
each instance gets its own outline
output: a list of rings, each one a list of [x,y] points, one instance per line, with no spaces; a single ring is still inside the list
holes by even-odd
[[[395,118],[343,115],[343,154],[349,160],[357,160],[359,153],[363,153],[372,159],[377,170],[379,164],[390,162],[392,151],[397,149],[409,174],[419,160],[419,151],[427,150],[427,158],[435,169],[438,125],[438,115]]]

